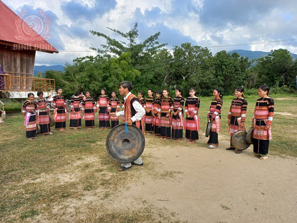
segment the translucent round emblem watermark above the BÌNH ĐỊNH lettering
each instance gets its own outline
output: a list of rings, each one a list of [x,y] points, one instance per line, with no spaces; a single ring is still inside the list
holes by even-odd
[[[39,9],[40,16],[28,15],[27,9],[20,13],[20,18],[15,20],[15,26],[18,36],[14,36],[17,40],[45,40],[51,38],[50,35],[50,18],[46,13]],[[29,28],[30,27],[30,28]],[[34,30],[34,31],[33,31]]]

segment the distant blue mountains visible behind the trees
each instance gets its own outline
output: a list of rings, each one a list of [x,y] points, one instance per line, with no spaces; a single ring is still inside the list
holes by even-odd
[[[227,53],[228,54],[238,53],[240,56],[244,56],[244,57],[247,57],[248,56],[248,60],[258,59],[258,58],[261,58],[261,57],[264,57],[264,56],[268,56],[269,54],[271,54],[271,52],[246,51],[246,50],[234,50],[234,51],[229,51]],[[297,59],[297,54],[290,53],[290,55],[293,57],[293,59]],[[40,72],[40,71],[43,74],[45,74],[45,72],[47,70],[59,70],[59,71],[64,72],[64,67],[62,65],[34,66],[34,75],[37,75],[37,73]]]

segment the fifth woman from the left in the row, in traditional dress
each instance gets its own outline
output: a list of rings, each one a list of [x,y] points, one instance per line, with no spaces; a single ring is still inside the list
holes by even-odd
[[[84,113],[86,128],[91,129],[95,126],[96,103],[91,91],[86,91],[86,100],[83,101],[82,112]]]

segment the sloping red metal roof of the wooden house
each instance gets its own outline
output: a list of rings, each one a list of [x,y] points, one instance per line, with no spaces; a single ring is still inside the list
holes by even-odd
[[[29,34],[29,35],[28,35]],[[20,49],[59,53],[20,16],[0,0],[0,44]]]

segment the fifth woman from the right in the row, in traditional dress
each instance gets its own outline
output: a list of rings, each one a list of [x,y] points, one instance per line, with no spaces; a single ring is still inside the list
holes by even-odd
[[[184,104],[183,89],[175,89],[175,97],[173,98],[173,105],[171,107],[172,113],[172,139],[181,140],[183,138],[184,128]]]

